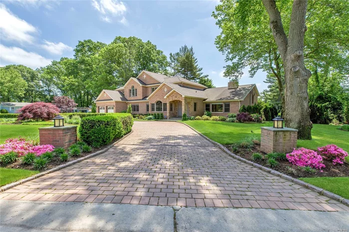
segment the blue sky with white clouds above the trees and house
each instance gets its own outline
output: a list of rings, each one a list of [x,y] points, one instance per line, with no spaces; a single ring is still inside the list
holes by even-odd
[[[45,66],[62,56],[72,57],[78,40],[110,43],[115,36],[150,40],[169,56],[181,46],[193,46],[198,64],[217,87],[223,77],[224,55],[214,41],[220,33],[212,18],[216,0],[2,0],[0,3],[0,65]],[[267,85],[266,73],[251,79],[248,68],[240,84]]]

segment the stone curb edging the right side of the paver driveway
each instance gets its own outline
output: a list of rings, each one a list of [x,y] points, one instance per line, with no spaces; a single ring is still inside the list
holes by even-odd
[[[291,182],[293,182],[293,183],[295,183],[295,184],[298,184],[298,185],[300,185],[300,186],[302,186],[302,187],[305,187],[305,188],[307,188],[307,189],[310,189],[310,190],[312,190],[312,191],[314,191],[314,192],[316,192],[316,193],[319,193],[319,194],[321,194],[321,195],[323,195],[323,196],[326,196],[326,197],[331,198],[331,199],[333,199],[333,200],[339,201],[339,202],[341,202],[342,204],[344,204],[344,205],[346,205],[346,206],[349,206],[349,199],[346,199],[346,198],[344,198],[344,197],[341,197],[341,196],[339,196],[339,195],[337,195],[337,194],[334,194],[334,193],[332,193],[332,192],[329,192],[329,191],[327,191],[327,190],[325,190],[325,189],[319,188],[319,187],[317,187],[317,186],[315,186],[315,185],[311,185],[311,184],[309,184],[309,183],[307,183],[307,182],[304,182],[304,181],[302,181],[302,180],[299,180],[299,179],[293,178],[293,177],[291,177],[291,176],[285,175],[285,174],[283,174],[283,173],[281,173],[281,172],[275,171],[275,170],[273,170],[273,169],[271,169],[271,168],[268,168],[268,167],[265,167],[265,166],[263,166],[263,165],[261,165],[261,164],[258,164],[258,163],[252,162],[252,161],[250,161],[250,160],[244,159],[244,158],[242,158],[242,157],[240,157],[240,156],[238,156],[238,155],[232,153],[230,150],[228,150],[228,149],[227,149],[225,146],[223,146],[222,144],[220,144],[220,143],[218,143],[218,142],[215,142],[215,141],[213,141],[212,139],[210,139],[209,137],[203,135],[202,133],[200,133],[199,131],[197,131],[196,129],[194,129],[193,127],[191,127],[190,125],[188,125],[188,124],[186,124],[186,123],[184,123],[184,122],[181,122],[181,121],[177,121],[177,122],[182,123],[182,124],[188,126],[188,127],[191,128],[192,130],[194,130],[195,132],[197,132],[198,134],[200,134],[202,137],[206,138],[208,141],[210,141],[211,143],[213,143],[215,146],[219,147],[222,151],[224,151],[225,153],[227,153],[229,156],[231,156],[231,157],[233,157],[233,158],[235,158],[235,159],[237,159],[237,160],[240,160],[240,161],[242,161],[242,162],[244,162],[244,163],[250,164],[250,165],[252,165],[252,166],[254,166],[254,167],[258,168],[258,169],[261,169],[261,170],[263,170],[263,171],[266,171],[266,172],[269,172],[269,173],[271,173],[271,174],[274,174],[274,175],[276,175],[276,176],[278,176],[278,177],[281,177],[281,178],[283,178],[283,179],[285,179],[285,180],[291,181]]]

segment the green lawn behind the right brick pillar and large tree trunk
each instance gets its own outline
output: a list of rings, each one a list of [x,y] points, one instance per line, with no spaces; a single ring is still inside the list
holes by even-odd
[[[265,123],[235,123],[225,121],[184,121],[202,134],[221,144],[232,144],[248,136],[261,136],[261,126],[273,126],[272,122]],[[319,146],[336,144],[349,152],[349,133],[337,129],[336,125],[314,124],[312,140],[298,140],[298,147],[316,149]],[[253,131],[253,133],[252,133]],[[349,157],[347,157],[349,158]]]

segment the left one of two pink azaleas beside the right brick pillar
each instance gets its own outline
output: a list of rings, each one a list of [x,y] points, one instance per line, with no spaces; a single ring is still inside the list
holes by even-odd
[[[323,158],[316,151],[301,147],[286,155],[290,163],[299,167],[325,168]]]

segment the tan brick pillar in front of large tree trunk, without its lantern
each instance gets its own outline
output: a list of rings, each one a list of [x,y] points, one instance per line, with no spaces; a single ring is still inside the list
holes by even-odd
[[[297,129],[261,127],[261,151],[290,153],[297,147]]]

